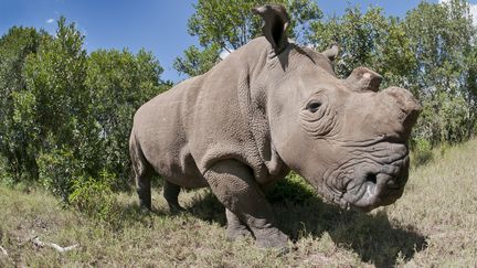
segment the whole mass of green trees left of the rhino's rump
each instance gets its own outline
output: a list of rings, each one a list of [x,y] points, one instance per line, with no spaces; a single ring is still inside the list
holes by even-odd
[[[83,46],[65,18],[55,36],[13,28],[0,39],[2,181],[40,181],[65,202],[75,178],[103,170],[114,189],[128,186],[132,115],[170,83],[149,52]]]

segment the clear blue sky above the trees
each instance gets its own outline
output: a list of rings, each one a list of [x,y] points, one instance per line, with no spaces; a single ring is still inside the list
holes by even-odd
[[[271,0],[272,1],[272,0]],[[325,15],[341,14],[349,4],[362,9],[379,6],[388,15],[405,15],[420,0],[316,0]],[[431,0],[430,2],[448,0]],[[165,72],[162,79],[178,82],[173,60],[190,45],[187,22],[194,12],[195,0],[0,0],[0,35],[13,25],[34,26],[54,34],[56,20],[64,15],[85,35],[85,49],[127,47],[136,53],[151,51]],[[477,0],[470,1],[477,3]],[[477,15],[477,4],[473,6]],[[477,21],[477,20],[476,20]]]

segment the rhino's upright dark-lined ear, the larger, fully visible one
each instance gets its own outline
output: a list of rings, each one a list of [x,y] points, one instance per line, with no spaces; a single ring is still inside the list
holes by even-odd
[[[289,24],[289,17],[286,9],[280,4],[265,4],[253,9],[264,20],[262,31],[268,42],[279,54],[288,44],[286,30]]]

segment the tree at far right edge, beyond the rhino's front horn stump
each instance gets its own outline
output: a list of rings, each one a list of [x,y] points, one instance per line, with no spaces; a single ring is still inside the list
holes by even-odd
[[[476,29],[468,1],[421,2],[403,23],[417,63],[412,84],[424,106],[416,135],[433,143],[467,139],[477,118]]]

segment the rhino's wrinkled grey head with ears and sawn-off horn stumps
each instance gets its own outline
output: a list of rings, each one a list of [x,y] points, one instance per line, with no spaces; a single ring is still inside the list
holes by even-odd
[[[288,42],[280,6],[255,12],[271,43],[261,84],[274,150],[342,207],[370,211],[396,201],[407,181],[416,99],[403,88],[379,90],[382,77],[365,67],[337,78],[336,46],[319,53]]]

